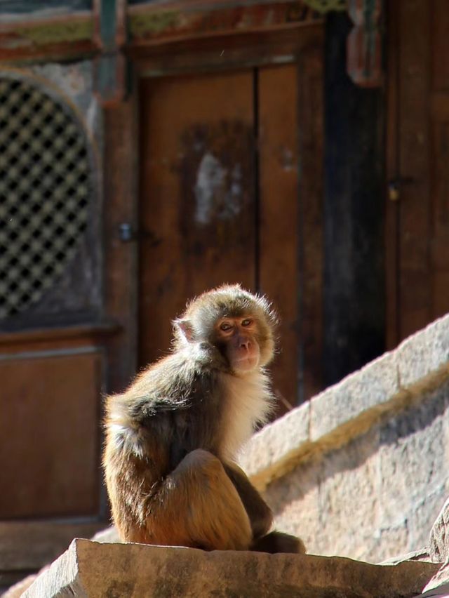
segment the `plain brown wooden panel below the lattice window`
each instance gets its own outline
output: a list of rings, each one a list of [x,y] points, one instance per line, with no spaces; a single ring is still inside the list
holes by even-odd
[[[100,352],[12,354],[0,380],[0,518],[98,515]]]

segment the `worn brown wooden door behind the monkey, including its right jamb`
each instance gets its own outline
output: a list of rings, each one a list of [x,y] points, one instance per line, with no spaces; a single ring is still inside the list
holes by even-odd
[[[239,282],[281,314],[280,411],[321,387],[321,190],[308,170],[320,175],[321,58],[304,64],[140,85],[140,364],[169,350],[189,298]],[[316,112],[300,131],[307,93]]]

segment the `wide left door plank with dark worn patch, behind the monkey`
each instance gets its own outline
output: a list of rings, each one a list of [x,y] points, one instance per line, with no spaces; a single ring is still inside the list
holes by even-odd
[[[140,85],[140,364],[186,300],[255,286],[253,72]]]

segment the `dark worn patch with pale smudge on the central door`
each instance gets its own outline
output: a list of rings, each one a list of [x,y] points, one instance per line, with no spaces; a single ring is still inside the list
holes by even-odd
[[[179,173],[182,216],[180,230],[186,239],[201,243],[188,251],[245,244],[253,227],[254,138],[253,124],[239,120],[192,124],[180,134]],[[187,250],[186,250],[187,251]]]

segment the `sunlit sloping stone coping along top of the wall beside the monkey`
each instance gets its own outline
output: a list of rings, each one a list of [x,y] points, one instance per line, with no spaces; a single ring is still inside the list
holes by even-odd
[[[240,464],[258,489],[341,446],[449,377],[449,314],[253,436]]]

